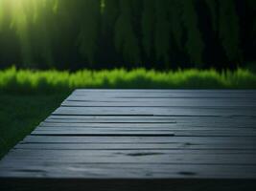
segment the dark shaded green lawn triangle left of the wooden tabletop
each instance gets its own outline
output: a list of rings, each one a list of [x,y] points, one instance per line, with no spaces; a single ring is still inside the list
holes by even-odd
[[[48,117],[66,96],[0,94],[0,159]]]

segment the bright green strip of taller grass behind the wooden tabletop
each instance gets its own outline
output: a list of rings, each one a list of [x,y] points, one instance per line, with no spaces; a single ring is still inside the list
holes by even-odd
[[[14,93],[69,92],[76,88],[255,89],[256,74],[245,69],[218,73],[196,69],[176,72],[133,71],[0,71],[0,91]]]

